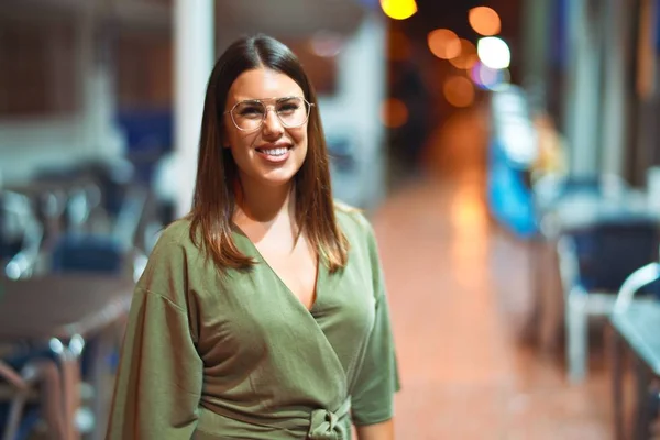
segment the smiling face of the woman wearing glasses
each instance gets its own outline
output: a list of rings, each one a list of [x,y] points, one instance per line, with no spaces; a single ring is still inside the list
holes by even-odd
[[[224,114],[224,145],[231,148],[241,179],[252,179],[266,186],[288,184],[307,155],[307,121],[300,127],[285,127],[276,111],[286,120],[296,110],[296,100],[282,98],[304,97],[302,89],[290,77],[257,68],[241,74],[227,97]],[[258,128],[264,107],[251,100],[262,100],[266,117]],[[239,105],[238,107],[235,107]],[[237,121],[242,128],[234,124]]]

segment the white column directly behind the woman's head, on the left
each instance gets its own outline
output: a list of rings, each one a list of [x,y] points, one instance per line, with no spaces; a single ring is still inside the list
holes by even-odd
[[[175,154],[178,216],[193,201],[204,98],[213,67],[213,0],[176,0],[175,25]]]

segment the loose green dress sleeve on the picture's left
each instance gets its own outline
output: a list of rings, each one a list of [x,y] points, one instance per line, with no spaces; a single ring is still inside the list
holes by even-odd
[[[184,287],[173,282],[172,271],[182,267],[156,252],[135,289],[108,440],[188,440],[197,426],[204,364],[185,305],[176,301],[184,294],[174,290]],[[168,292],[152,290],[164,286]]]

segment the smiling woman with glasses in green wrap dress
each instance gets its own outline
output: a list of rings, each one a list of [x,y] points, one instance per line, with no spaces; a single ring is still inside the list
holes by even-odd
[[[110,439],[394,438],[376,243],[334,206],[317,99],[282,43],[211,74],[193,209],[140,279]]]

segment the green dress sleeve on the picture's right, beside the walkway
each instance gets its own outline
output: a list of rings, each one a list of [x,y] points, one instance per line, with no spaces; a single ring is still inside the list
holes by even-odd
[[[400,388],[389,321],[389,306],[385,295],[385,283],[376,241],[371,227],[369,245],[376,295],[376,316],[364,361],[351,395],[352,418],[356,426],[380,424],[394,417],[394,394]]]

